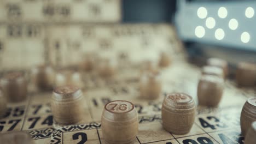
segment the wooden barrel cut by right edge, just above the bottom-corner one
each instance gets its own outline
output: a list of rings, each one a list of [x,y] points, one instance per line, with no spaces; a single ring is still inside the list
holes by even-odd
[[[256,121],[256,98],[250,98],[243,105],[240,117],[242,135],[246,136],[253,121]]]

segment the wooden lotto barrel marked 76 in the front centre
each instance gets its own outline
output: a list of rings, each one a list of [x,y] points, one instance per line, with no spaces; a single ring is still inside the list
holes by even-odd
[[[138,115],[129,101],[115,100],[106,104],[101,117],[106,143],[133,143],[138,133]]]

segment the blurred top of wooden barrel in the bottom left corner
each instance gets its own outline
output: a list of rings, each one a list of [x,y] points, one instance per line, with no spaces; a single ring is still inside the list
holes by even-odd
[[[32,144],[34,143],[28,133],[25,131],[9,131],[0,134],[0,143],[2,144]]]

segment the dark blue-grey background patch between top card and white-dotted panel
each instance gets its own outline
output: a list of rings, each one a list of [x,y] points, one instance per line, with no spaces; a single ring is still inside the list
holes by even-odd
[[[124,0],[123,22],[171,22],[176,10],[175,0]]]

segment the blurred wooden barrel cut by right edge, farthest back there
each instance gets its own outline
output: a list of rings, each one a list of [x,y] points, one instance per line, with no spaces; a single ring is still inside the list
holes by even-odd
[[[254,86],[256,84],[256,64],[247,62],[238,63],[236,83],[239,86]]]

